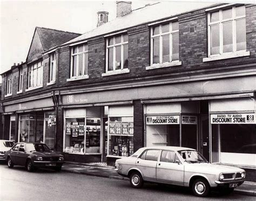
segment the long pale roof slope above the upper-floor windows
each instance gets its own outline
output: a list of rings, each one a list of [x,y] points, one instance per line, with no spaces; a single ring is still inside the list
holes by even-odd
[[[133,10],[127,15],[117,17],[112,21],[97,27],[96,29],[86,32],[81,36],[64,43],[63,45],[76,43],[77,41],[86,40],[107,33],[125,30],[129,27],[137,26],[140,24],[150,23],[165,18],[171,18],[172,16],[177,16],[179,13],[204,8],[205,6],[213,4],[216,3],[192,2],[189,4],[189,8],[187,6],[187,2],[159,2],[147,5],[143,8]]]

